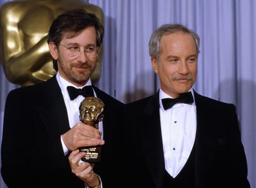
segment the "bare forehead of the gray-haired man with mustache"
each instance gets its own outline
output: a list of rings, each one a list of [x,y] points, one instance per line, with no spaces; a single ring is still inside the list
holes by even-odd
[[[171,50],[173,52],[180,50],[191,51],[191,53],[197,52],[197,45],[193,36],[185,32],[175,32],[173,34],[167,34],[162,36],[160,41],[161,51]]]

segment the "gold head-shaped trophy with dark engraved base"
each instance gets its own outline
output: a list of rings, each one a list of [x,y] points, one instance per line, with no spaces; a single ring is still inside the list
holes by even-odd
[[[98,129],[99,121],[103,120],[104,103],[96,97],[87,97],[80,103],[80,121]],[[100,162],[101,146],[80,147],[80,152],[85,152],[81,158],[83,162],[96,163]]]

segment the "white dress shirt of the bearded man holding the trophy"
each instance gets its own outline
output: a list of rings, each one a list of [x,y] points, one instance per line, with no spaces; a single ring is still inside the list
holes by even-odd
[[[66,108],[67,108],[67,113],[68,113],[68,117],[69,117],[69,126],[70,126],[70,128],[72,128],[72,127],[74,127],[74,125],[76,125],[76,123],[78,123],[80,121],[80,119],[79,119],[79,115],[80,115],[79,106],[80,106],[81,101],[83,101],[83,99],[85,97],[80,95],[76,99],[70,100],[69,92],[67,91],[67,87],[72,86],[72,87],[81,89],[81,88],[83,88],[87,85],[92,85],[91,79],[89,79],[87,81],[86,85],[84,85],[83,87],[76,87],[76,85],[73,85],[72,83],[69,83],[69,81],[61,78],[61,76],[59,75],[59,72],[57,72],[57,74],[56,74],[56,79],[59,83],[59,87],[61,88],[61,92],[62,92],[64,101],[65,101],[65,105],[66,105]],[[95,92],[94,92],[94,96],[96,96]],[[99,125],[99,130],[102,132],[101,138],[103,138],[103,124],[102,124],[102,121],[100,121],[98,125]],[[64,141],[62,140],[62,137],[61,137],[61,143],[62,143],[64,154],[66,155],[69,152],[69,149],[67,149]]]

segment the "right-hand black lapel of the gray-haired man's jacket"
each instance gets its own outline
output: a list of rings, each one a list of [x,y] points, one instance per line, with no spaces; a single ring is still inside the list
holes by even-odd
[[[214,116],[209,109],[209,101],[195,91],[197,105],[197,134],[195,139],[195,187],[207,187],[213,178],[211,169],[216,151],[216,129]],[[209,110],[206,110],[209,109]]]

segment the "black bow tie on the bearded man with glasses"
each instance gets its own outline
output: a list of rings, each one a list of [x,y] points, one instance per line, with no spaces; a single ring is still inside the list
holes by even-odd
[[[85,86],[82,89],[76,89],[75,87],[72,86],[68,86],[67,90],[69,92],[69,98],[70,100],[74,100],[75,98],[77,98],[78,96],[84,96],[86,97],[90,97],[90,96],[94,96],[93,90],[92,90],[92,86]]]

